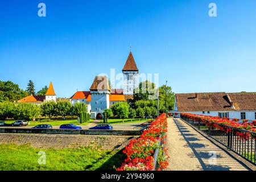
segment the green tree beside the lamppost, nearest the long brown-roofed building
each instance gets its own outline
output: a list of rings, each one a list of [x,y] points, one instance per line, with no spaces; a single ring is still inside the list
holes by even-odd
[[[174,110],[174,100],[175,93],[172,92],[171,86],[163,85],[159,87],[159,101],[162,101],[162,104],[164,104],[164,110],[162,112],[166,111],[166,105],[167,111]]]

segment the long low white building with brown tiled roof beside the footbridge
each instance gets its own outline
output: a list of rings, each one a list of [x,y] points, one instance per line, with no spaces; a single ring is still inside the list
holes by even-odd
[[[174,112],[255,120],[256,93],[178,93]]]

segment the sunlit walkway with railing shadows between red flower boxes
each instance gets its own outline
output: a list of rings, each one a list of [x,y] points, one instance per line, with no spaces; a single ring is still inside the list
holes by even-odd
[[[204,138],[181,119],[168,118],[167,148],[170,155],[167,170],[232,171],[247,170],[237,160]],[[214,158],[214,155],[216,158]]]

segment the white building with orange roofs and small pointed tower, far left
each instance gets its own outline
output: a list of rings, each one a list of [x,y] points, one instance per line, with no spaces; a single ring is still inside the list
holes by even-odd
[[[49,88],[45,96],[27,96],[18,100],[19,103],[30,103],[30,104],[39,104],[39,105],[47,101],[56,102],[56,94],[54,92],[52,82],[50,82]]]

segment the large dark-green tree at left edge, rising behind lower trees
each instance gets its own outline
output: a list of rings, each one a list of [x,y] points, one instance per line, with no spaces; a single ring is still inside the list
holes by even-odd
[[[20,89],[19,85],[11,81],[0,81],[0,102],[18,101],[26,96],[28,96],[27,92]]]

